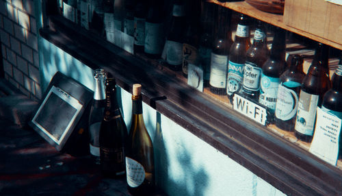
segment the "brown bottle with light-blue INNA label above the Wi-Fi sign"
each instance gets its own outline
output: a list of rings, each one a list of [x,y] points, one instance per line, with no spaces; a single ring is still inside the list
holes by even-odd
[[[250,48],[250,27],[247,16],[241,14],[237,24],[235,40],[229,51],[228,75],[226,93],[232,100],[233,93],[241,92],[242,79],[244,77],[244,66],[246,52]]]

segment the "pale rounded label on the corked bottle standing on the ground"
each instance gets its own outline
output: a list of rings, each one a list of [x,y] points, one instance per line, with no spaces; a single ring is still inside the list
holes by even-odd
[[[145,169],[142,164],[126,157],[126,171],[127,171],[127,184],[131,187],[137,187],[144,182]]]

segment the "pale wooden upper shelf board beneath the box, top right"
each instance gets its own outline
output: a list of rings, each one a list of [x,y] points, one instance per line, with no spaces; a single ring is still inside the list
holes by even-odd
[[[264,21],[265,23],[269,23],[271,25],[281,27],[282,29],[286,29],[289,32],[299,34],[299,35],[304,36],[306,38],[311,38],[313,40],[316,40],[317,42],[322,42],[326,45],[330,45],[331,47],[342,50],[342,43],[332,42],[330,40],[327,40],[326,38],[321,38],[320,36],[315,36],[314,34],[310,34],[308,32],[304,32],[300,29],[290,27],[289,25],[286,25],[283,22],[283,16],[282,15],[271,14],[271,13],[263,12],[261,10],[257,10],[257,8],[254,8],[252,5],[248,4],[246,1],[221,3],[220,1],[217,1],[217,0],[209,0],[209,2],[222,5],[226,8],[234,10],[236,12],[240,12],[242,14],[246,14],[248,16],[251,16],[254,19]]]

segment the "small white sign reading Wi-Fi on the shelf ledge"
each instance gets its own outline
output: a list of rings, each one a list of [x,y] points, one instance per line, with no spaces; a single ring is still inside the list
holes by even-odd
[[[235,93],[233,97],[233,109],[244,114],[246,117],[257,121],[261,125],[265,125],[266,123],[266,109],[259,106],[257,103],[241,97],[241,95],[238,95],[237,93]]]

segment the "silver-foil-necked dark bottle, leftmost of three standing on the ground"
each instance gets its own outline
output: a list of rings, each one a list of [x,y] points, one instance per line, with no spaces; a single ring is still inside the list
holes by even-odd
[[[94,71],[94,98],[89,115],[89,148],[96,164],[100,164],[100,127],[105,109],[105,72],[103,69]]]

